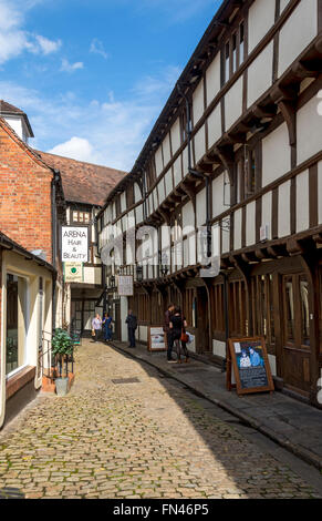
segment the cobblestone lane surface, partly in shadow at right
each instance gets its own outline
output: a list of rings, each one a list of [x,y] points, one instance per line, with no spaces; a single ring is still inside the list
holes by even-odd
[[[113,382],[136,378],[131,384]],[[0,489],[27,498],[316,498],[301,477],[153,368],[84,340],[63,398],[0,432]]]

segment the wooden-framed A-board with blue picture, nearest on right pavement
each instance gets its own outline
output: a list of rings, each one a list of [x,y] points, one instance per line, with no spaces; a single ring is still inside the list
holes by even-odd
[[[228,390],[235,387],[231,384],[232,370],[238,395],[274,390],[266,343],[262,337],[228,339]]]

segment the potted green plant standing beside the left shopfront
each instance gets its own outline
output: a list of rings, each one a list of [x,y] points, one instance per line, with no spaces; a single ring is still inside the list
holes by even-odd
[[[52,354],[60,365],[60,377],[55,379],[56,394],[59,396],[65,396],[69,390],[70,378],[67,371],[67,360],[69,357],[73,356],[73,340],[69,334],[64,329],[56,329],[52,339]],[[65,360],[66,365],[65,377],[62,377],[63,360]]]

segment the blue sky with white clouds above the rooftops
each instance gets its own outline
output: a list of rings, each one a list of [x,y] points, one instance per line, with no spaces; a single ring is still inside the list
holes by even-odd
[[[30,145],[131,170],[221,0],[0,0],[0,99]]]

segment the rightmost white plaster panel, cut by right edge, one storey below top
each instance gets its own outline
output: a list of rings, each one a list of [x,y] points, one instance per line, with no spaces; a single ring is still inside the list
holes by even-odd
[[[298,164],[310,159],[322,149],[321,99],[313,96],[298,112]]]

